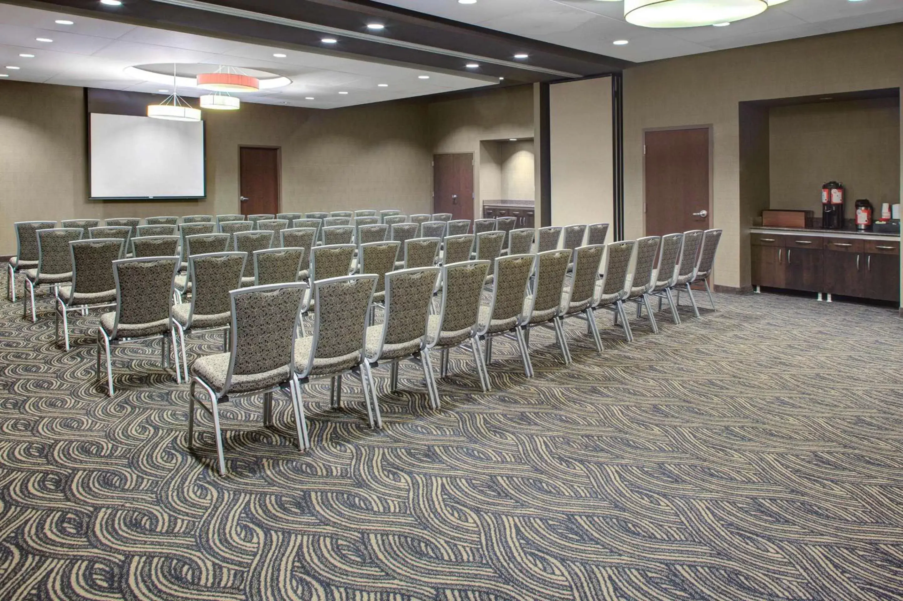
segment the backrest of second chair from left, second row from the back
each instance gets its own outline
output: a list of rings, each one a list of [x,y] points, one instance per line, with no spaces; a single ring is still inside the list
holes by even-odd
[[[245,253],[206,253],[188,257],[191,273],[191,306],[188,324],[194,315],[219,315],[231,309],[228,291],[241,287]]]

